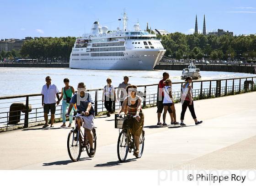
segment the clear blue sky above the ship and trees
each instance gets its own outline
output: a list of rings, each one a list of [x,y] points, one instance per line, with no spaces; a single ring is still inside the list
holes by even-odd
[[[256,0],[0,0],[0,38],[81,36],[98,20],[115,30],[125,8],[128,27],[139,19],[152,29],[191,33],[218,28],[239,34],[256,33]]]

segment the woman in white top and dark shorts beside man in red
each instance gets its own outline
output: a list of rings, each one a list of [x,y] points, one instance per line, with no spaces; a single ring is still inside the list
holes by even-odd
[[[171,90],[171,79],[167,78],[164,81],[164,100],[163,100],[163,105],[164,105],[164,114],[163,114],[163,120],[164,123],[163,125],[166,126],[167,124],[165,123],[165,118],[166,118],[166,113],[167,110],[169,111],[169,114],[171,116],[171,125],[179,125],[180,123],[176,121],[176,111],[174,107],[174,102],[172,98],[172,90]]]

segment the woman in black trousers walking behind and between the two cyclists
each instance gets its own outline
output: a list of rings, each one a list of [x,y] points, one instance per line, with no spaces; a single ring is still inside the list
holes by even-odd
[[[111,85],[111,83],[111,78],[107,78],[107,85],[104,86],[102,93],[102,102],[104,102],[105,108],[107,109],[108,117],[110,117],[110,114],[112,113],[112,105],[116,98],[115,88]]]

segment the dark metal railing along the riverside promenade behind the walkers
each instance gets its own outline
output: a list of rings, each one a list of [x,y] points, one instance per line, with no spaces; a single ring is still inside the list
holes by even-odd
[[[245,82],[246,81],[246,82]],[[173,82],[172,94],[175,102],[181,99],[181,87],[185,82]],[[158,84],[138,85],[138,91],[143,95],[143,107],[147,105],[155,105],[158,100]],[[197,80],[192,82],[193,98],[207,99],[217,98],[225,95],[233,95],[256,91],[256,77],[245,78],[229,78],[218,80]],[[94,98],[95,115],[98,115],[107,110],[104,108],[104,102],[101,101],[103,88],[87,90],[91,97]],[[117,91],[117,88],[115,88]],[[59,93],[60,94],[60,93]],[[18,110],[21,113],[21,120],[19,123],[10,125],[10,105],[16,102],[24,102],[26,109]],[[29,105],[32,106],[31,112]],[[113,102],[113,111],[120,109],[120,102]],[[15,117],[15,116],[11,116]],[[61,103],[56,106],[55,119],[62,118],[62,105]],[[48,118],[49,119],[49,118]],[[44,121],[42,95],[41,94],[25,94],[13,95],[8,97],[0,97],[0,131],[8,130],[11,126],[21,125],[27,128],[29,124]]]

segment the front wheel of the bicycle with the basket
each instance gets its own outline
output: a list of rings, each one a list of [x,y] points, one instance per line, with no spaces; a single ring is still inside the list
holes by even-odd
[[[124,162],[128,155],[129,146],[126,133],[122,130],[117,141],[117,156],[120,162]]]

